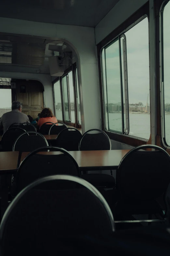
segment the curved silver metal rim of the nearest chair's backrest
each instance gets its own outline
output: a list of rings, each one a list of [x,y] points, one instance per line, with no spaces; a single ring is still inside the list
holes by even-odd
[[[29,190],[34,189],[36,186],[43,184],[44,182],[47,181],[52,181],[52,180],[68,180],[68,181],[73,181],[77,182],[78,184],[84,186],[88,190],[90,190],[101,202],[103,207],[106,210],[106,213],[110,219],[110,224],[112,227],[112,231],[115,231],[115,225],[114,225],[114,218],[113,214],[110,210],[110,207],[108,206],[108,203],[106,202],[105,198],[101,195],[101,193],[89,182],[87,182],[84,179],[81,179],[76,176],[71,176],[71,175],[53,175],[53,176],[47,176],[41,179],[38,179],[34,181],[33,183],[29,184],[27,187],[25,187],[11,202],[11,204],[8,206],[6,212],[4,213],[4,216],[2,218],[1,224],[0,224],[0,241],[2,242],[3,239],[3,233],[5,231],[6,227],[6,222],[8,217],[10,216],[10,213],[13,211],[13,209],[16,207],[18,201],[24,196]]]

